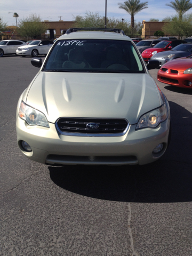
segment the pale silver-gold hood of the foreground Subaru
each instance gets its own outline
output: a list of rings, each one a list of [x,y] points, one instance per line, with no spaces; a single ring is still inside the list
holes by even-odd
[[[51,123],[59,117],[126,118],[130,124],[162,105],[148,74],[39,72],[26,103]]]

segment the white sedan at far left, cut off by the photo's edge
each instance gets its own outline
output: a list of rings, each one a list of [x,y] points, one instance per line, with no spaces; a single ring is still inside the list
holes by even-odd
[[[20,40],[3,40],[0,42],[0,57],[4,54],[16,54],[19,46],[26,45],[25,42]]]

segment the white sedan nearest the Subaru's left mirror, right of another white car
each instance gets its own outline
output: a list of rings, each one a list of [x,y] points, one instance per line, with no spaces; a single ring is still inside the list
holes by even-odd
[[[49,40],[35,40],[24,47],[19,47],[16,53],[17,55],[22,55],[23,57],[27,55],[37,57],[37,55],[47,54],[52,45],[53,42]]]

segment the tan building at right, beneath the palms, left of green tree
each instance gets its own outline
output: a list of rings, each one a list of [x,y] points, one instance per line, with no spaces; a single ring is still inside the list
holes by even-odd
[[[148,39],[151,36],[154,36],[154,33],[157,30],[161,30],[162,31],[162,27],[164,25],[165,22],[161,21],[142,21],[142,34],[141,37]]]

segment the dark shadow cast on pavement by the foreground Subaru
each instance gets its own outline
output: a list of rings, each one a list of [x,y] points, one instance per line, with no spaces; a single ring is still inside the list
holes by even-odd
[[[174,102],[170,108],[172,139],[158,161],[142,166],[49,166],[52,181],[73,193],[110,201],[192,201],[192,114]]]

